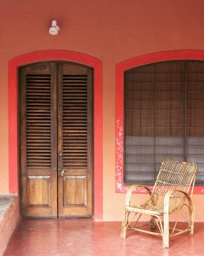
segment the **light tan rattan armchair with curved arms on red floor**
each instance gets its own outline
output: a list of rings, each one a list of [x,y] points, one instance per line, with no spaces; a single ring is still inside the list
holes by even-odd
[[[156,178],[152,191],[148,187],[133,185],[127,190],[124,217],[122,221],[122,238],[126,238],[128,230],[139,230],[147,234],[162,237],[163,247],[169,247],[169,238],[184,232],[194,232],[194,205],[191,195],[194,189],[196,164],[164,160]],[[144,204],[133,205],[132,193],[138,187],[146,189],[150,199]],[[169,214],[177,213],[183,217],[186,227],[178,229],[178,221],[170,227]],[[179,214],[178,214],[179,213]],[[139,222],[142,214],[150,216],[150,222]],[[172,223],[171,223],[172,224]]]

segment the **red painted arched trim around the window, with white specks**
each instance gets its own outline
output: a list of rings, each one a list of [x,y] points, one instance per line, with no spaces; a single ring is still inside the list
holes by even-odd
[[[141,55],[116,64],[116,192],[125,193],[128,186],[123,183],[123,125],[124,125],[124,72],[133,67],[157,61],[204,60],[203,50],[172,50]],[[204,194],[203,186],[195,187],[195,194]],[[144,192],[139,189],[137,192]]]

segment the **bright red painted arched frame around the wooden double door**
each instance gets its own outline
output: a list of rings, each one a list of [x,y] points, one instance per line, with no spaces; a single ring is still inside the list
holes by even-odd
[[[94,68],[94,218],[103,219],[103,66],[102,61],[70,50],[42,50],[8,61],[9,193],[19,195],[18,68],[39,61],[72,61]]]

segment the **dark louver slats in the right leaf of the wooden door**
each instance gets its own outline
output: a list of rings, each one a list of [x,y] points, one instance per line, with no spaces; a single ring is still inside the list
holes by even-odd
[[[87,75],[63,75],[63,166],[88,166]]]

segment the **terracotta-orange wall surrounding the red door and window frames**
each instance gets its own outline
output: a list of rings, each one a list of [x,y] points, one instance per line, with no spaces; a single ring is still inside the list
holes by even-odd
[[[0,192],[8,192],[8,60],[43,49],[93,55],[104,65],[104,219],[121,220],[115,193],[116,63],[172,49],[204,50],[202,0],[0,0]],[[52,19],[59,36],[48,34]],[[144,195],[139,196],[141,200]],[[196,220],[204,220],[195,195]]]

